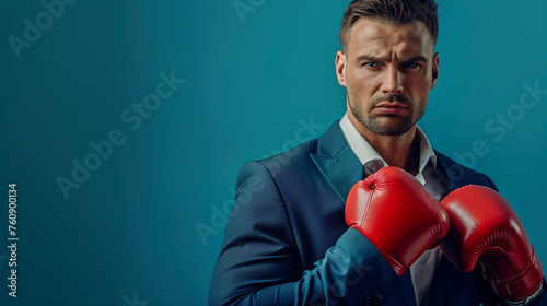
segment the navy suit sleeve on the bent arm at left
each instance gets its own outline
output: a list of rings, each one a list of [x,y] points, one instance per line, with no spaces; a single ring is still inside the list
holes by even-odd
[[[353,228],[303,270],[271,174],[257,162],[242,167],[209,305],[366,305],[401,287],[389,263]]]

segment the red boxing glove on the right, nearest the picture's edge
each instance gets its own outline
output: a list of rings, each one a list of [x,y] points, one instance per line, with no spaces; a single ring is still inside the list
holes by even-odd
[[[500,193],[469,185],[452,191],[441,204],[451,223],[441,249],[459,271],[472,271],[478,260],[482,276],[509,301],[525,299],[539,290],[544,278],[539,259]]]

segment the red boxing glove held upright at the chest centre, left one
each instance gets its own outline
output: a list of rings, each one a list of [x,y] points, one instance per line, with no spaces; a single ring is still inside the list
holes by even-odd
[[[357,183],[346,201],[346,223],[363,234],[400,276],[446,235],[449,216],[410,174],[384,167]]]

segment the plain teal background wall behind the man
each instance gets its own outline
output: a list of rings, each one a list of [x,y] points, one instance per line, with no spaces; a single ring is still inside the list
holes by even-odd
[[[254,1],[243,19],[232,2],[79,0],[19,59],[8,37],[45,9],[0,4],[0,246],[9,183],[20,237],[16,298],[0,247],[0,305],[207,304],[223,232],[203,240],[196,225],[212,226],[244,162],[293,145],[302,120],[324,131],[345,113],[334,60],[349,1]],[[452,157],[486,143],[475,168],[545,267],[547,95],[500,141],[485,123],[519,104],[524,83],[547,89],[547,2],[439,4],[441,73],[420,126]],[[131,131],[120,114],[172,70],[186,82]],[[113,129],[126,142],[66,199],[56,179]]]

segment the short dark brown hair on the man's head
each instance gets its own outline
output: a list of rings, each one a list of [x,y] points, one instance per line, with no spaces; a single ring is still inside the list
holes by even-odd
[[[422,21],[433,42],[439,35],[438,5],[434,0],[353,0],[344,13],[340,43],[346,50],[349,32],[360,17],[377,19],[395,25]]]

